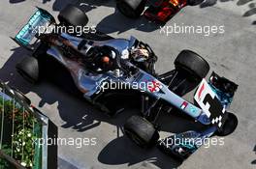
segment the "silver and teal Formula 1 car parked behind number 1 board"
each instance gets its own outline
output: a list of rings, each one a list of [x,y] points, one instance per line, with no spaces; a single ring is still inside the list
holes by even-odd
[[[81,94],[110,115],[123,110],[121,100],[137,100],[141,116],[132,116],[124,125],[124,133],[137,145],[148,148],[158,145],[160,150],[178,158],[195,152],[199,144],[169,144],[173,137],[159,140],[156,121],[160,113],[176,108],[203,124],[203,131],[179,133],[178,137],[205,140],[232,133],[237,117],[226,111],[238,88],[234,82],[212,73],[209,82],[208,62],[190,50],[176,57],[175,70],[157,74],[154,70],[157,56],[150,46],[134,37],[130,40],[113,39],[101,33],[80,37],[67,33],[41,33],[39,25],[50,22],[54,26],[84,26],[87,16],[75,6],[67,6],[58,15],[57,24],[47,11],[38,9],[14,40],[33,51],[16,65],[16,70],[28,81],[36,83],[48,77],[61,87]],[[36,37],[35,43],[31,44]],[[30,46],[32,45],[32,46]],[[199,86],[195,100],[198,105],[182,99],[186,84]],[[126,102],[127,104],[127,102]]]

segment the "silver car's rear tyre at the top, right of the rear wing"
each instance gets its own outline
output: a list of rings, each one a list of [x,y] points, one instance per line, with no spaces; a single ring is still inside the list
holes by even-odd
[[[84,27],[88,23],[87,15],[74,5],[68,5],[61,10],[58,19],[65,26]]]

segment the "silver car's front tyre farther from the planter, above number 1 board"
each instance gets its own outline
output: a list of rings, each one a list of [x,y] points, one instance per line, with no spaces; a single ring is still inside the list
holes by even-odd
[[[197,53],[190,50],[182,50],[175,61],[177,70],[185,70],[196,80],[201,81],[208,74],[208,62]]]

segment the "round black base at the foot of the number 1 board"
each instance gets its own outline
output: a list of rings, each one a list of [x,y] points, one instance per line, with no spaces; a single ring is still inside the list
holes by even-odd
[[[233,113],[227,112],[228,113],[228,119],[226,120],[224,126],[222,129],[219,131],[217,130],[215,132],[216,135],[218,136],[227,136],[235,131],[235,129],[238,127],[239,120],[237,116]]]

